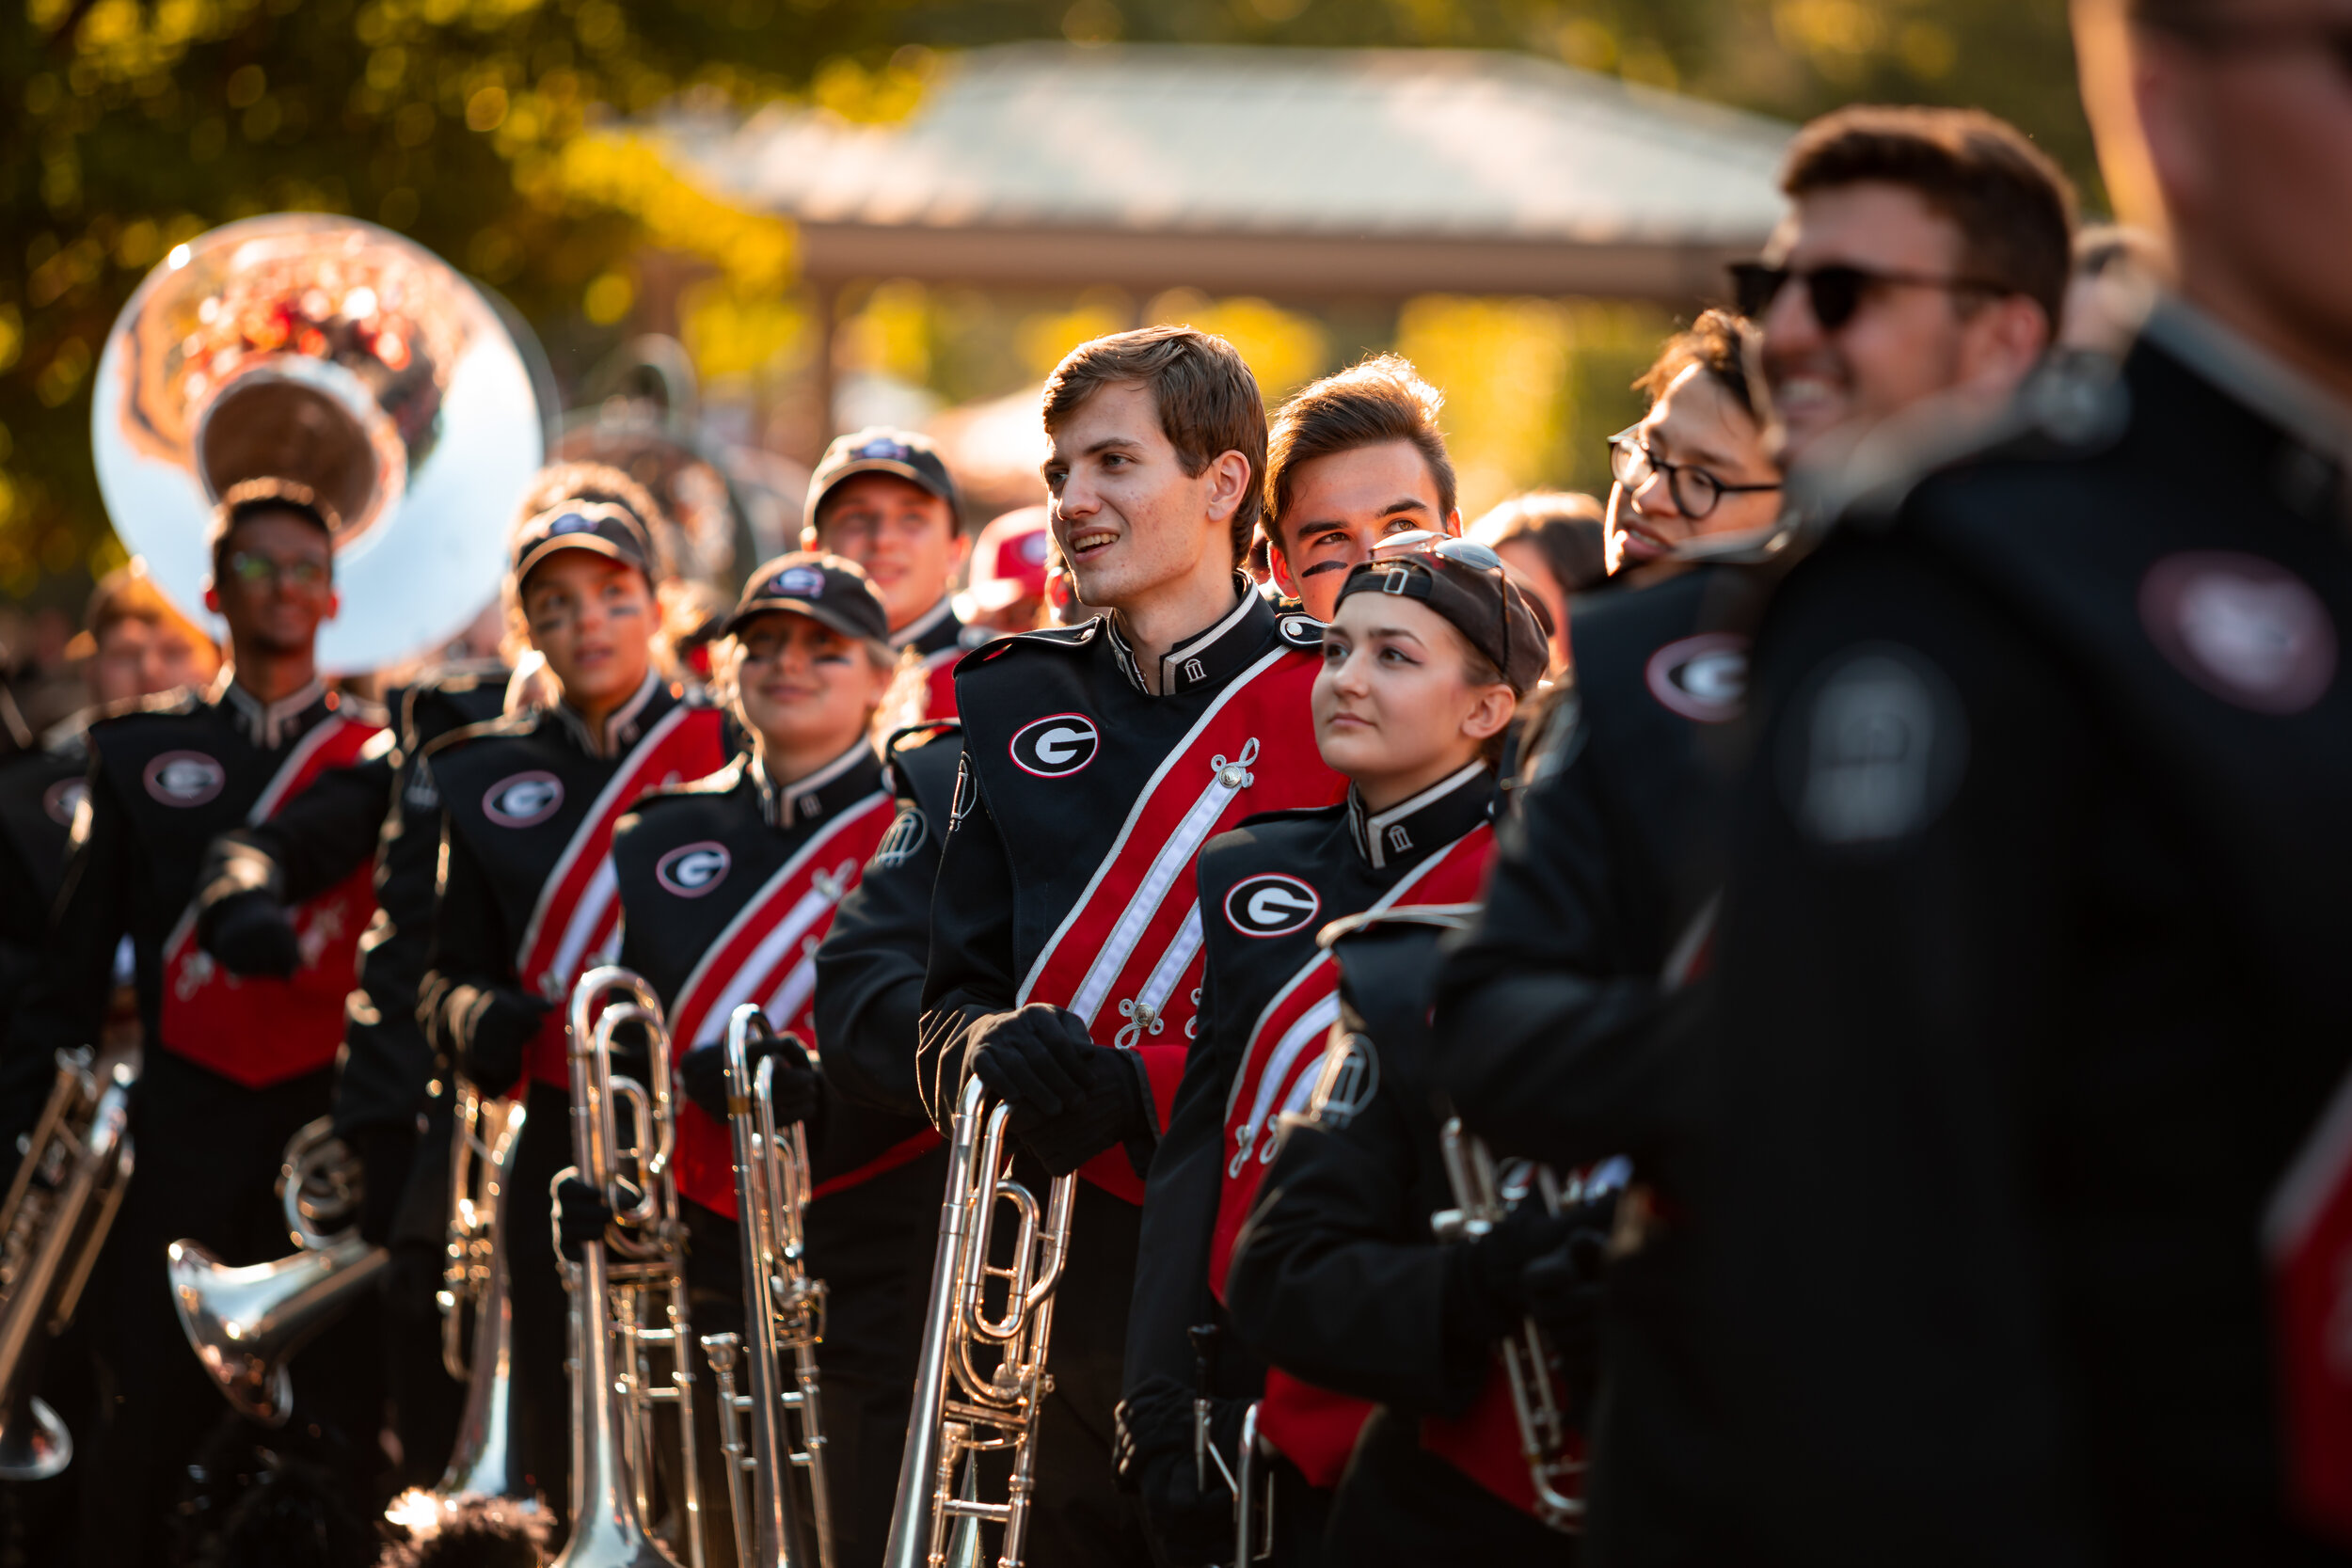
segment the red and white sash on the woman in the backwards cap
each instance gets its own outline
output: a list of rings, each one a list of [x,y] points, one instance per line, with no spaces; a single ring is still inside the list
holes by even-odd
[[[1470,903],[1486,884],[1494,827],[1479,823],[1416,865],[1371,907]],[[1216,1197],[1216,1229],[1209,1237],[1209,1291],[1225,1300],[1232,1272],[1232,1239],[1249,1220],[1249,1206],[1275,1157],[1282,1112],[1305,1110],[1324,1060],[1322,1044],[1338,1025],[1338,964],[1329,952],[1308,959],[1289,985],[1258,1013],[1249,1032],[1242,1070],[1225,1095],[1225,1161]],[[1371,1401],[1331,1394],[1279,1368],[1265,1373],[1258,1432],[1298,1467],[1312,1486],[1338,1486],[1338,1472],[1355,1453],[1355,1439],[1371,1415]]]

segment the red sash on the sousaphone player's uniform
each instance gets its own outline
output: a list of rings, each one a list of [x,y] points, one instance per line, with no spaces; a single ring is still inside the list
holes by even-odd
[[[261,799],[245,813],[266,823],[327,769],[350,766],[383,733],[329,715],[294,743]],[[301,969],[289,978],[240,978],[195,945],[191,905],[162,947],[162,1044],[247,1088],[318,1072],[343,1044],[343,997],[358,978],[360,933],[376,912],[376,867],[360,865],[336,886],[294,905]]]

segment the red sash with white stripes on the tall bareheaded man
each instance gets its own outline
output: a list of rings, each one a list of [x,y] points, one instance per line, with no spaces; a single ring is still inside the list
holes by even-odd
[[[1143,1053],[1167,1126],[1200,1009],[1200,900],[1192,858],[1244,816],[1329,806],[1348,780],[1324,766],[1308,722],[1312,654],[1275,649],[1216,698],[1160,762],[1110,853],[1021,983],[1016,1006],[1054,1001],[1096,1044]],[[1174,1027],[1171,1027],[1174,1025]],[[1143,1180],[1120,1147],[1080,1175],[1129,1204]]]

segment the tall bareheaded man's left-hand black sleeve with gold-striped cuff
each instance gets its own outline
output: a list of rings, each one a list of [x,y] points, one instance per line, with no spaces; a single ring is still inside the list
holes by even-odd
[[[948,1131],[964,1088],[971,1030],[1014,1009],[1014,877],[1004,837],[976,780],[957,778],[957,816],[938,856],[931,896],[931,959],[922,983],[917,1088],[931,1124]]]

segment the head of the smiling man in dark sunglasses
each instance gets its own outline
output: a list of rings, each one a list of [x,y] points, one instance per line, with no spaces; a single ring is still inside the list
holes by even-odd
[[[2072,193],[1980,110],[1844,108],[1790,148],[1790,214],[1733,268],[1764,329],[1788,468],[1825,470],[1933,400],[1983,418],[2049,348],[2070,268]]]

